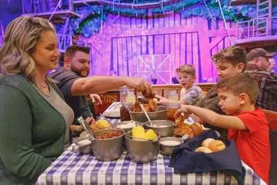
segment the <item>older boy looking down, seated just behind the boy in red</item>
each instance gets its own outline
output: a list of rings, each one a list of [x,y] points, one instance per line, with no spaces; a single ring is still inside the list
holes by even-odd
[[[217,68],[217,75],[220,79],[233,77],[244,72],[247,65],[247,52],[240,46],[230,46],[224,50],[221,50],[220,52],[217,52],[217,54],[212,57],[212,61]],[[218,105],[219,102],[220,98],[212,88],[208,91],[208,95],[195,105],[213,110],[215,113],[220,115],[225,115],[224,111],[222,111]],[[204,121],[195,115],[193,115],[193,119],[201,124],[204,124]],[[217,128],[211,125],[207,125],[206,127],[217,130],[220,132],[222,137],[227,137],[228,130],[226,129]]]

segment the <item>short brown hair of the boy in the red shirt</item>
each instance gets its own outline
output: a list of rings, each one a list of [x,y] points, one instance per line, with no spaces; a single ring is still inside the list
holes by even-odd
[[[242,74],[226,77],[215,85],[215,89],[228,90],[238,96],[245,93],[249,96],[250,104],[255,104],[259,95],[258,84],[250,75]]]

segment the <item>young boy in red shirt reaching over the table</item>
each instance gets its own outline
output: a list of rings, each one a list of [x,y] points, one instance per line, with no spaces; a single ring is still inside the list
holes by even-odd
[[[265,182],[269,182],[270,145],[269,123],[265,113],[255,108],[258,84],[247,74],[226,77],[216,84],[220,108],[226,115],[197,106],[182,106],[176,113],[193,113],[203,121],[220,128],[228,128],[240,159],[250,166]]]

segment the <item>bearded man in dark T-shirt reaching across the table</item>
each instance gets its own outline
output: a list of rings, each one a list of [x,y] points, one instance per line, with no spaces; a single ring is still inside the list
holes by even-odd
[[[73,133],[82,132],[82,126],[78,123],[78,117],[84,119],[91,117],[92,114],[87,106],[85,95],[105,93],[111,89],[128,86],[140,92],[146,90],[147,93],[152,93],[152,87],[141,78],[133,77],[100,77],[89,75],[90,71],[90,54],[89,48],[84,46],[70,46],[64,54],[64,66],[51,73],[50,77],[55,79],[57,87],[64,95],[66,104],[69,104],[73,109],[75,119],[71,130]],[[98,95],[91,95],[100,103]]]

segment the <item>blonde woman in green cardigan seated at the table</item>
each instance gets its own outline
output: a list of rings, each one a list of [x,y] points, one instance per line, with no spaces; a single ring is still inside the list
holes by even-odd
[[[2,184],[35,184],[69,143],[73,111],[46,78],[58,65],[57,43],[46,19],[17,17],[6,30],[0,48]]]

